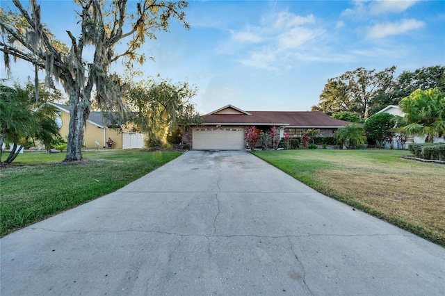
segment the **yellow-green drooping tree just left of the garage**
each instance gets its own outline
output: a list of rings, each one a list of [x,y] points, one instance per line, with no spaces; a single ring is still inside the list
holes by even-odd
[[[167,142],[167,135],[175,129],[184,131],[193,124],[202,123],[190,99],[197,89],[186,82],[169,80],[140,81],[129,86],[124,101],[129,108],[129,122],[134,131],[147,135],[149,147]]]

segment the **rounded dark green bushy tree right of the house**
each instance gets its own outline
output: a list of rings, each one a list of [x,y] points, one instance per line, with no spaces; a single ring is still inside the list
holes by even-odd
[[[371,115],[363,127],[368,138],[375,140],[378,148],[384,148],[385,142],[392,142],[394,137],[394,115],[389,113],[377,113]]]

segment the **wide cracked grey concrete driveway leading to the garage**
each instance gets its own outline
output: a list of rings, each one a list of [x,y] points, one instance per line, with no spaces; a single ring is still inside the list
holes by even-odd
[[[190,151],[2,238],[1,295],[445,295],[445,249],[245,151]]]

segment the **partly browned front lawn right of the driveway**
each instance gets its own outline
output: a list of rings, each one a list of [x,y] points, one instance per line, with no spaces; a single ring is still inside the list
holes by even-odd
[[[255,151],[318,192],[445,247],[445,165],[399,150]]]

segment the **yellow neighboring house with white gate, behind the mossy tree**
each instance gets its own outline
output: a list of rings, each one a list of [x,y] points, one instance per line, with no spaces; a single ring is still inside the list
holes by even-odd
[[[58,108],[60,117],[58,123],[60,126],[60,135],[67,140],[68,127],[70,125],[70,109],[69,106],[49,103],[52,106]],[[92,111],[86,122],[86,126],[83,128],[83,147],[85,148],[97,148],[97,142],[99,148],[107,147],[106,141],[108,138],[113,140],[113,149],[132,149],[142,148],[144,146],[144,135],[141,133],[130,133],[123,131],[122,129],[113,129],[104,119],[102,112]]]

